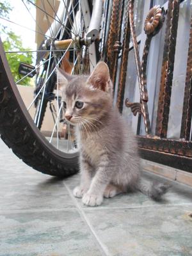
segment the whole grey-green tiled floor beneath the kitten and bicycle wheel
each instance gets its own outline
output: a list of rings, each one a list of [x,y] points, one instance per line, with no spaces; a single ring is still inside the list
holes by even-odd
[[[0,141],[0,256],[192,255],[191,188],[171,182],[162,202],[132,193],[86,207],[72,196],[78,180],[36,172]]]

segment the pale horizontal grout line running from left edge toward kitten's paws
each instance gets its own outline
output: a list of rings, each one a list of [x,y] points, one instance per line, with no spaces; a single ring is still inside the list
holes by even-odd
[[[1,214],[10,214],[10,213],[31,213],[31,212],[60,212],[60,211],[71,211],[76,210],[75,207],[68,207],[68,208],[44,208],[44,209],[19,209],[19,210],[1,210],[0,209],[0,215]]]

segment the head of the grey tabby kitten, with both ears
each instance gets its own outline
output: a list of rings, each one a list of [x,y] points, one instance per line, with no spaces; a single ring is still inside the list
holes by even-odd
[[[65,118],[72,125],[94,130],[112,107],[109,68],[100,61],[90,76],[70,76],[58,70]]]

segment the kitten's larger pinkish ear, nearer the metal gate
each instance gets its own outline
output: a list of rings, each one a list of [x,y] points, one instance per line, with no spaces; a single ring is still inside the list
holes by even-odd
[[[87,83],[104,92],[111,92],[112,86],[109,76],[109,68],[104,61],[97,63],[92,74],[88,77]]]

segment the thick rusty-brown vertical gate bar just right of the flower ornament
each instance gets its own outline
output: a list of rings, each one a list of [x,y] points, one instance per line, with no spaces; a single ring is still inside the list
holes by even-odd
[[[163,66],[161,69],[161,84],[159,90],[156,123],[156,135],[160,136],[161,138],[166,138],[168,129],[170,99],[172,95],[173,68],[175,60],[175,45],[177,39],[177,25],[179,19],[179,3],[179,0],[168,1]]]

